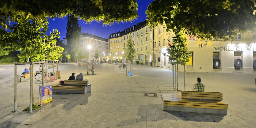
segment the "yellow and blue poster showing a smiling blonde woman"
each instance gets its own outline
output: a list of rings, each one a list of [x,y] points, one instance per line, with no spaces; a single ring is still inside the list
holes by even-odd
[[[39,86],[39,103],[41,105],[52,101],[52,85]]]

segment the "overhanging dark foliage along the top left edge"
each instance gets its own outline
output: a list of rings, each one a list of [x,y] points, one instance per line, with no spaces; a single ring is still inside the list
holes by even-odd
[[[114,21],[133,21],[138,17],[136,0],[4,0],[0,2],[2,19],[12,17],[9,13],[31,14],[35,17],[64,17],[74,14],[86,22],[100,21],[113,24]],[[0,24],[3,22],[0,20]],[[5,24],[5,23],[4,23]]]

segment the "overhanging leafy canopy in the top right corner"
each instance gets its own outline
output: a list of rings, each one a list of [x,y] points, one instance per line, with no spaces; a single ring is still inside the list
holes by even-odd
[[[255,32],[255,9],[255,0],[155,0],[147,7],[147,25],[165,23],[167,31],[184,29],[197,38],[228,40],[237,32]]]

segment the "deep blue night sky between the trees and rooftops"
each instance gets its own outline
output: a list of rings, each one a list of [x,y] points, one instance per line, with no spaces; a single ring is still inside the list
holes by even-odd
[[[132,25],[136,25],[138,22],[143,22],[147,19],[147,15],[145,14],[145,11],[147,10],[147,6],[152,2],[153,0],[137,0],[138,3],[138,15],[139,17],[134,20],[132,23],[114,23],[111,26],[103,27],[103,24],[101,22],[97,23],[95,21],[91,22],[90,24],[83,23],[82,20],[78,21],[78,24],[82,27],[81,32],[90,33],[96,36],[100,36],[103,38],[108,39],[109,35],[111,33],[115,33],[118,31],[124,31],[124,29],[127,29],[131,27]],[[49,28],[47,34],[50,34],[52,29],[58,29],[60,32],[60,39],[63,39],[66,37],[67,32],[67,16],[63,19],[55,18],[54,20],[49,19]]]

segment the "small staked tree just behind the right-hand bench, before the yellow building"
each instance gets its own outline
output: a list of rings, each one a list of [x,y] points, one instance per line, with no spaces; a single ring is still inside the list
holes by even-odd
[[[173,38],[173,43],[172,45],[169,47],[167,47],[167,51],[170,55],[166,55],[168,57],[169,61],[173,61],[173,62],[188,62],[189,61],[189,53],[188,53],[188,49],[186,47],[186,41],[187,38],[184,37],[184,31],[181,30],[175,30],[174,34],[175,36],[172,37]],[[178,91],[178,64],[177,64],[177,69],[176,70],[176,81],[177,81],[177,85],[176,85],[176,89]]]

